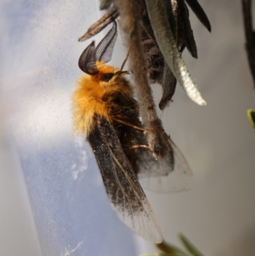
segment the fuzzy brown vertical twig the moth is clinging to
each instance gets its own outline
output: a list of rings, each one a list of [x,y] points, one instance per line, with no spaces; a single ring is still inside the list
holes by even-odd
[[[129,69],[133,75],[138,98],[139,112],[145,126],[149,147],[156,158],[163,158],[169,151],[169,144],[161,120],[157,117],[152,90],[147,78],[147,60],[143,53],[142,38],[139,31],[140,6],[136,0],[115,0],[120,10],[120,27],[126,47],[131,47]]]

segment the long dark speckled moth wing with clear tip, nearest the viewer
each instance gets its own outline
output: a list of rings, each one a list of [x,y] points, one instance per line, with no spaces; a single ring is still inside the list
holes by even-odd
[[[136,234],[161,243],[156,216],[138,182],[113,125],[96,117],[97,125],[88,139],[96,156],[106,193],[119,218]]]

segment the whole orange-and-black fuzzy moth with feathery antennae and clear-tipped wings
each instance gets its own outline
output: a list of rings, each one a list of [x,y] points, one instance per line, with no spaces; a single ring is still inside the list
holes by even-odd
[[[106,64],[116,38],[114,20],[98,46],[92,41],[82,52],[78,66],[86,75],[80,77],[73,94],[73,123],[75,131],[84,133],[91,144],[106,193],[119,218],[144,239],[161,243],[156,215],[138,179],[156,190],[183,190],[187,184],[182,176],[191,174],[191,169],[167,135],[170,151],[160,160],[152,156],[133,86],[126,79],[128,72],[123,71],[124,64],[120,69]],[[175,188],[168,186],[171,173],[180,176]]]

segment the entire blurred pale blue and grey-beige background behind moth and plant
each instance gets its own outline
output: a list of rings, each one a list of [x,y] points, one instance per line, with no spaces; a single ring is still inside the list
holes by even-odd
[[[147,195],[166,241],[180,245],[182,232],[205,255],[255,255],[255,133],[245,114],[255,109],[255,91],[241,1],[200,4],[212,33],[190,11],[198,60],[183,56],[207,106],[178,86],[159,112],[193,169],[192,190]],[[156,252],[117,219],[89,147],[72,136],[71,93],[89,43],[77,38],[102,15],[97,10],[92,0],[0,3],[1,255]],[[112,63],[124,55],[119,40]],[[161,90],[153,88],[158,103]]]

